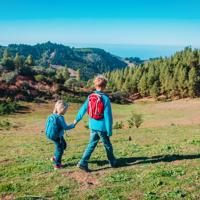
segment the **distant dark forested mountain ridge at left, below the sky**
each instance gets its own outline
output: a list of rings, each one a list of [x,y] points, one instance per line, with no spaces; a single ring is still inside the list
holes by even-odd
[[[127,63],[119,57],[99,48],[71,48],[51,42],[36,45],[9,44],[7,47],[0,46],[0,58],[3,57],[6,48],[12,57],[16,53],[24,58],[32,55],[35,65],[38,66],[66,65],[74,70],[80,69],[85,79],[127,66]]]

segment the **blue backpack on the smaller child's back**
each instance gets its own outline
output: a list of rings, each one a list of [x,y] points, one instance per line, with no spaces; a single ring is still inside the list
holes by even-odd
[[[58,116],[55,114],[49,115],[46,121],[45,133],[47,138],[56,140],[59,138],[60,126]]]

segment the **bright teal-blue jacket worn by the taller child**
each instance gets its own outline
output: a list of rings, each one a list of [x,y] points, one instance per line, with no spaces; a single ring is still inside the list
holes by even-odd
[[[112,109],[110,104],[110,99],[102,92],[95,91],[95,93],[98,93],[102,96],[103,102],[104,102],[104,118],[100,120],[93,119],[89,117],[89,128],[91,130],[101,131],[101,132],[107,132],[108,136],[112,135],[112,124],[113,124],[113,118],[112,118]],[[88,108],[88,98],[85,101],[85,103],[80,108],[77,116],[76,121],[79,122],[85,113],[87,112]]]

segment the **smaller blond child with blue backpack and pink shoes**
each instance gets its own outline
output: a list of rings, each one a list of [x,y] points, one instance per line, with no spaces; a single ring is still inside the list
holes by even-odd
[[[55,144],[55,153],[51,161],[55,163],[54,169],[62,168],[61,159],[66,149],[66,141],[64,139],[64,131],[73,129],[74,124],[67,125],[63,115],[66,113],[68,105],[59,100],[55,104],[53,114],[51,114],[46,122],[46,136]]]

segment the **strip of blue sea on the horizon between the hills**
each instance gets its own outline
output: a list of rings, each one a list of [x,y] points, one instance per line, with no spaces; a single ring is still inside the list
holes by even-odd
[[[139,57],[140,59],[147,60],[149,58],[169,57],[177,51],[183,50],[186,46],[173,46],[173,45],[127,45],[127,44],[79,44],[72,45],[74,47],[94,47],[102,48],[120,57]],[[200,48],[200,47],[195,47]]]

